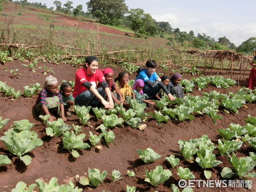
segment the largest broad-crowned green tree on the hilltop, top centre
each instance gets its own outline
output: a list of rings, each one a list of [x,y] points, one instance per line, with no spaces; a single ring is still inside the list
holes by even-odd
[[[103,24],[119,25],[128,12],[125,0],[90,0],[86,5],[91,14]]]

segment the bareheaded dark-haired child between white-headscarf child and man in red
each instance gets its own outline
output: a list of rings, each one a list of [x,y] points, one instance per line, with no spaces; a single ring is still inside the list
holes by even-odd
[[[69,82],[64,82],[61,84],[61,97],[63,100],[64,109],[66,111],[66,116],[71,116],[70,111],[75,111],[75,98],[72,95],[72,85]]]

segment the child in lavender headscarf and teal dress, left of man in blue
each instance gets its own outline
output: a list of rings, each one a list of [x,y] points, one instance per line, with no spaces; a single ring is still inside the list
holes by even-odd
[[[143,94],[143,87],[144,87],[144,81],[142,79],[137,79],[135,81],[134,85],[132,86],[132,89],[135,94],[135,98],[137,99],[138,102],[149,103],[153,107],[154,105],[156,105],[156,103],[152,102],[151,100],[146,100],[146,99],[148,99],[148,96],[147,96],[147,94]]]

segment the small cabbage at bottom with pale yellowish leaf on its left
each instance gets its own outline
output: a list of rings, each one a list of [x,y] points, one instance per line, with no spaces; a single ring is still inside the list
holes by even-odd
[[[104,180],[106,175],[108,175],[108,172],[106,172],[106,171],[100,172],[99,169],[90,169],[90,168],[88,168],[88,178],[84,177],[84,176],[81,176],[79,183],[81,185],[97,186],[100,183],[102,183],[102,181]]]

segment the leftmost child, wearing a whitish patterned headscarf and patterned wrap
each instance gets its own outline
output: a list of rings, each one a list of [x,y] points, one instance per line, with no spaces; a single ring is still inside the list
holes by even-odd
[[[61,118],[67,121],[64,115],[64,105],[61,98],[61,94],[58,90],[58,81],[55,77],[49,76],[44,80],[44,88],[38,95],[36,100],[36,111],[39,115],[49,115],[49,121],[56,120],[56,117],[52,114],[56,111],[58,113],[58,108],[61,108]]]

